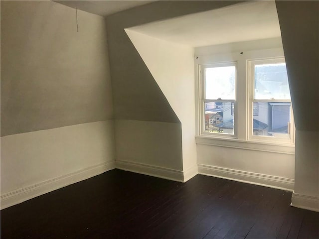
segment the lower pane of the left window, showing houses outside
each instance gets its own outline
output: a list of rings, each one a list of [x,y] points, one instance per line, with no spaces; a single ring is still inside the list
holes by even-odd
[[[234,134],[232,102],[205,102],[205,132]]]

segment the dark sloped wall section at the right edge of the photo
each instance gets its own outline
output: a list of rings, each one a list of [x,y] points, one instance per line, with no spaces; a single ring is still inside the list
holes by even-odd
[[[319,131],[319,1],[276,1],[296,128]]]

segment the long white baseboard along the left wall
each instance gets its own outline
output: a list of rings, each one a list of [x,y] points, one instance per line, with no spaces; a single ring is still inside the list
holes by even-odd
[[[1,195],[1,209],[22,203],[31,198],[35,198],[42,194],[53,190],[63,188],[67,185],[77,183],[79,181],[102,174],[108,170],[115,168],[115,161],[94,165],[74,173],[63,175],[51,180],[47,180],[29,187],[20,188]]]

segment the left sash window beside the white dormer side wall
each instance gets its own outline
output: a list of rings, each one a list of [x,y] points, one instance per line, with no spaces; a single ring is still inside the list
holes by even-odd
[[[202,65],[202,132],[235,135],[236,63]]]

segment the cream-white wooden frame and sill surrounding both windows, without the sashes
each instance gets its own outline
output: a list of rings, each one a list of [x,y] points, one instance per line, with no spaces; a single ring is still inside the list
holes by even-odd
[[[256,59],[284,58],[282,47],[266,48],[260,50],[237,51],[228,53],[211,53],[194,56],[195,70],[195,108],[196,108],[196,143],[223,147],[243,148],[258,151],[279,152],[295,154],[295,124],[292,121],[291,140],[260,140],[250,137],[249,112],[249,81],[248,61]],[[234,116],[234,129],[236,136],[225,137],[223,134],[204,133],[204,104],[203,83],[201,79],[201,66],[236,62],[236,105]],[[291,108],[292,109],[292,108]],[[238,113],[238,114],[237,114]],[[292,114],[293,116],[293,114]]]

